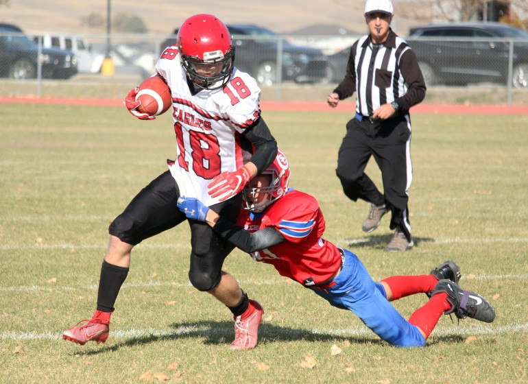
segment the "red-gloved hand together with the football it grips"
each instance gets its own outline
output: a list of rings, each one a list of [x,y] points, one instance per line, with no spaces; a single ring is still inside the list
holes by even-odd
[[[125,106],[138,119],[155,119],[171,108],[171,90],[162,77],[148,77],[128,93]]]

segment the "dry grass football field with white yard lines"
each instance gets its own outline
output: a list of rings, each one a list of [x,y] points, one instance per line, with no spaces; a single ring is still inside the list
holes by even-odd
[[[348,201],[335,176],[349,116],[263,112],[289,156],[291,187],[322,206],[326,239],[358,254],[376,280],[453,259],[461,286],[497,315],[492,324],[443,316],[426,348],[395,348],[235,251],[225,269],[265,314],[259,346],[234,352],[228,310],[189,285],[186,225],[136,247],[106,344],[62,340],[95,309],[108,224],[175,157],[170,116],[33,104],[0,113],[1,383],[528,382],[527,116],[413,115],[416,246],[384,254],[389,218],[361,232],[368,204]],[[368,173],[379,182],[373,162]],[[425,300],[394,306],[408,318]]]

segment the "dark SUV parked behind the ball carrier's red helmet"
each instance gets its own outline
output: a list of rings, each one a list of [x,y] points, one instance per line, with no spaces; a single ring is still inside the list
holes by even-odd
[[[326,57],[320,49],[293,45],[276,33],[248,24],[226,25],[233,36],[235,65],[252,75],[259,84],[270,86],[277,82],[278,45],[282,43],[281,57],[283,81],[298,83],[322,82],[326,79]],[[178,34],[178,29],[173,32]],[[176,43],[171,36],[161,44],[161,49]]]

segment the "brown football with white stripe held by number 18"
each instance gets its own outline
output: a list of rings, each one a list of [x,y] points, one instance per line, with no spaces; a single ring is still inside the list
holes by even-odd
[[[151,116],[161,115],[172,106],[171,90],[162,77],[148,77],[139,84],[136,101],[141,101],[137,110]]]

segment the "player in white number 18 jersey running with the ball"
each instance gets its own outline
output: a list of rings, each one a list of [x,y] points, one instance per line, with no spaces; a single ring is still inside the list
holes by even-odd
[[[226,25],[210,14],[184,21],[176,45],[161,54],[156,73],[171,89],[176,160],[168,161],[169,170],[142,189],[110,224],[97,309],[86,324],[64,331],[64,339],[81,345],[106,341],[132,248],[187,220],[178,210],[180,195],[195,197],[236,221],[243,187],[273,162],[277,144],[261,117],[261,90],[248,73],[234,66],[234,59]],[[137,110],[137,92],[137,88],[130,91],[125,106],[138,119],[154,119]],[[233,245],[202,221],[189,219],[189,226],[191,284],[211,293],[232,312],[235,341],[230,348],[253,348],[263,309],[221,270]]]

